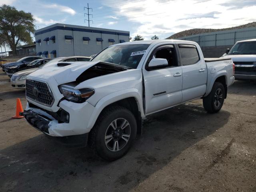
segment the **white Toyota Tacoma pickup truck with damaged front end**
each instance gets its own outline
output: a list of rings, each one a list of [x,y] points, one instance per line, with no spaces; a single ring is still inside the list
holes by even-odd
[[[204,59],[196,42],[126,42],[86,64],[56,62],[30,74],[21,114],[50,138],[88,144],[111,161],[126,154],[147,115],[197,98],[216,113],[233,82],[232,60]]]

